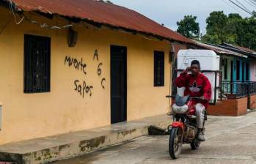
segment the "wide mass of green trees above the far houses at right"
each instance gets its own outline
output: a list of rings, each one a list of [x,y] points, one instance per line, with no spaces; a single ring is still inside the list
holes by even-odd
[[[256,19],[242,18],[241,15],[223,12],[211,12],[206,19],[206,34],[201,38],[203,42],[220,44],[222,42],[240,45],[256,50]]]

